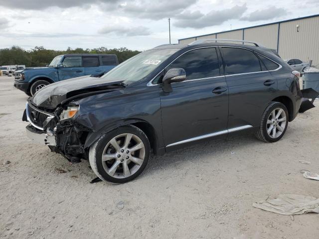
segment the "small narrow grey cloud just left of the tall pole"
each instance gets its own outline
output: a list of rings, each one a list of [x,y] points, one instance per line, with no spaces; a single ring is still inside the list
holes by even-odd
[[[114,33],[118,36],[147,36],[150,35],[150,29],[145,26],[105,26],[99,30],[100,34],[111,34]]]

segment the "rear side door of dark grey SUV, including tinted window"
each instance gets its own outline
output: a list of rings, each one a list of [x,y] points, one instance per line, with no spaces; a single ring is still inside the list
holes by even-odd
[[[220,47],[229,89],[228,129],[257,126],[277,91],[277,80],[248,49]]]

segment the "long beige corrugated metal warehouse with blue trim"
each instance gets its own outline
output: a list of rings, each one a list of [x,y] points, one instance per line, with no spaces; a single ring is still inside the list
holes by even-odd
[[[319,14],[269,24],[179,39],[189,44],[199,39],[227,38],[255,41],[277,49],[283,59],[313,60],[319,66]]]

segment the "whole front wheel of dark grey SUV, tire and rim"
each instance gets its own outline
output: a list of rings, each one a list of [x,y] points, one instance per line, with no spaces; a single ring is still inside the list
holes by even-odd
[[[150,158],[147,135],[133,125],[102,135],[89,151],[94,173],[103,181],[125,183],[139,176]]]

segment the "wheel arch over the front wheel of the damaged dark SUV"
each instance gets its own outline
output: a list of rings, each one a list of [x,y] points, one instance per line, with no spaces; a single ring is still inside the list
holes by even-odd
[[[126,125],[134,125],[140,128],[149,138],[151,148],[153,149],[154,153],[158,153],[159,149],[159,138],[156,133],[155,128],[151,123],[143,119],[124,119],[113,122],[112,124],[106,125],[102,127],[98,131],[89,132],[88,136],[86,137],[84,148],[89,148],[96,140],[98,140],[103,134],[110,132],[116,128]]]

